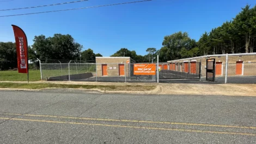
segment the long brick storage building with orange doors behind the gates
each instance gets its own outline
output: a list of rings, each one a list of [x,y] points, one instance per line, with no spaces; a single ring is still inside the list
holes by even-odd
[[[193,73],[195,62],[201,62],[202,76],[206,75],[206,59],[215,59],[216,76],[225,75],[226,55],[204,55],[201,57],[186,58],[179,60],[169,60],[169,70],[180,70]],[[181,65],[179,62],[184,63]],[[167,66],[166,66],[167,67]],[[228,76],[252,76],[256,75],[256,53],[228,54]]]

